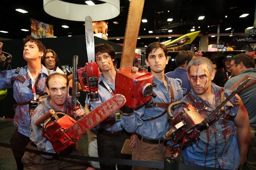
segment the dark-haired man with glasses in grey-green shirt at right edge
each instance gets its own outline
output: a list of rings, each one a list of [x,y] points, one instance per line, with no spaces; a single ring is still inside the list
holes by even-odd
[[[254,59],[245,53],[235,55],[231,60],[230,71],[232,78],[230,78],[225,88],[230,88],[236,84],[245,75],[248,75],[256,79],[256,69],[254,69]],[[246,108],[250,121],[251,129],[251,144],[247,155],[247,161],[244,165],[244,170],[256,170],[256,112],[255,112],[255,101],[256,101],[256,84],[242,90],[238,94]]]

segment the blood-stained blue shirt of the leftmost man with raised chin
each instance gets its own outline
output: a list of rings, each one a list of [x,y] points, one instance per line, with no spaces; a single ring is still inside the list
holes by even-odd
[[[33,92],[32,89],[28,88],[28,85],[31,84],[31,78],[27,72],[28,67],[25,66],[23,69],[20,69],[20,76],[25,79],[25,82],[22,83],[18,79],[16,79],[12,85],[12,77],[17,76],[15,73],[16,69],[1,71],[0,72],[0,89],[8,89],[13,87],[13,97],[16,102],[25,102],[33,100]],[[48,77],[48,71],[46,67],[42,65],[42,71],[40,75],[40,80],[36,84],[36,88],[42,92],[44,92],[44,86],[46,77]],[[35,80],[37,81],[37,80]],[[39,95],[36,95],[36,99],[38,99]],[[16,125],[16,123],[18,125]],[[20,105],[16,107],[15,115],[14,115],[14,126],[18,128],[18,132],[24,134],[25,136],[30,136],[31,132],[29,129],[30,117],[29,117],[29,105]]]

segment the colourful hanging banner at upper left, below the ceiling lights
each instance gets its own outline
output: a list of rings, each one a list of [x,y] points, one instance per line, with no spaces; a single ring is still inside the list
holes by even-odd
[[[34,38],[53,38],[53,26],[30,18],[31,35]]]

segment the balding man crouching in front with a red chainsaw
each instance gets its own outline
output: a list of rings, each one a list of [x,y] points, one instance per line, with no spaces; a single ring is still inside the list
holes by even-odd
[[[31,117],[31,142],[30,144],[28,144],[28,146],[26,146],[26,148],[44,151],[48,153],[56,153],[50,141],[42,136],[42,130],[35,125],[35,122],[50,109],[53,109],[55,112],[58,111],[75,117],[83,116],[84,113],[81,109],[77,109],[77,111],[75,112],[72,111],[72,99],[71,96],[68,96],[69,86],[67,77],[64,74],[53,73],[49,75],[46,80],[46,91],[49,97],[42,99],[41,104],[36,107]],[[43,127],[43,124],[44,123],[41,123],[40,127]],[[61,152],[63,154],[83,155],[78,150],[75,150],[73,146],[69,146]],[[53,156],[39,155],[32,152],[25,152],[24,156],[22,157],[22,163],[24,164],[24,170],[85,170],[88,166],[88,162],[86,161],[76,160],[73,158],[55,159]]]

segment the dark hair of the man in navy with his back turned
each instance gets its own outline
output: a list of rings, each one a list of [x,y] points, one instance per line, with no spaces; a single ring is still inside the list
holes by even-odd
[[[180,51],[175,58],[175,64],[177,65],[177,67],[183,66],[186,61],[188,64],[194,56],[196,55],[192,51]]]

